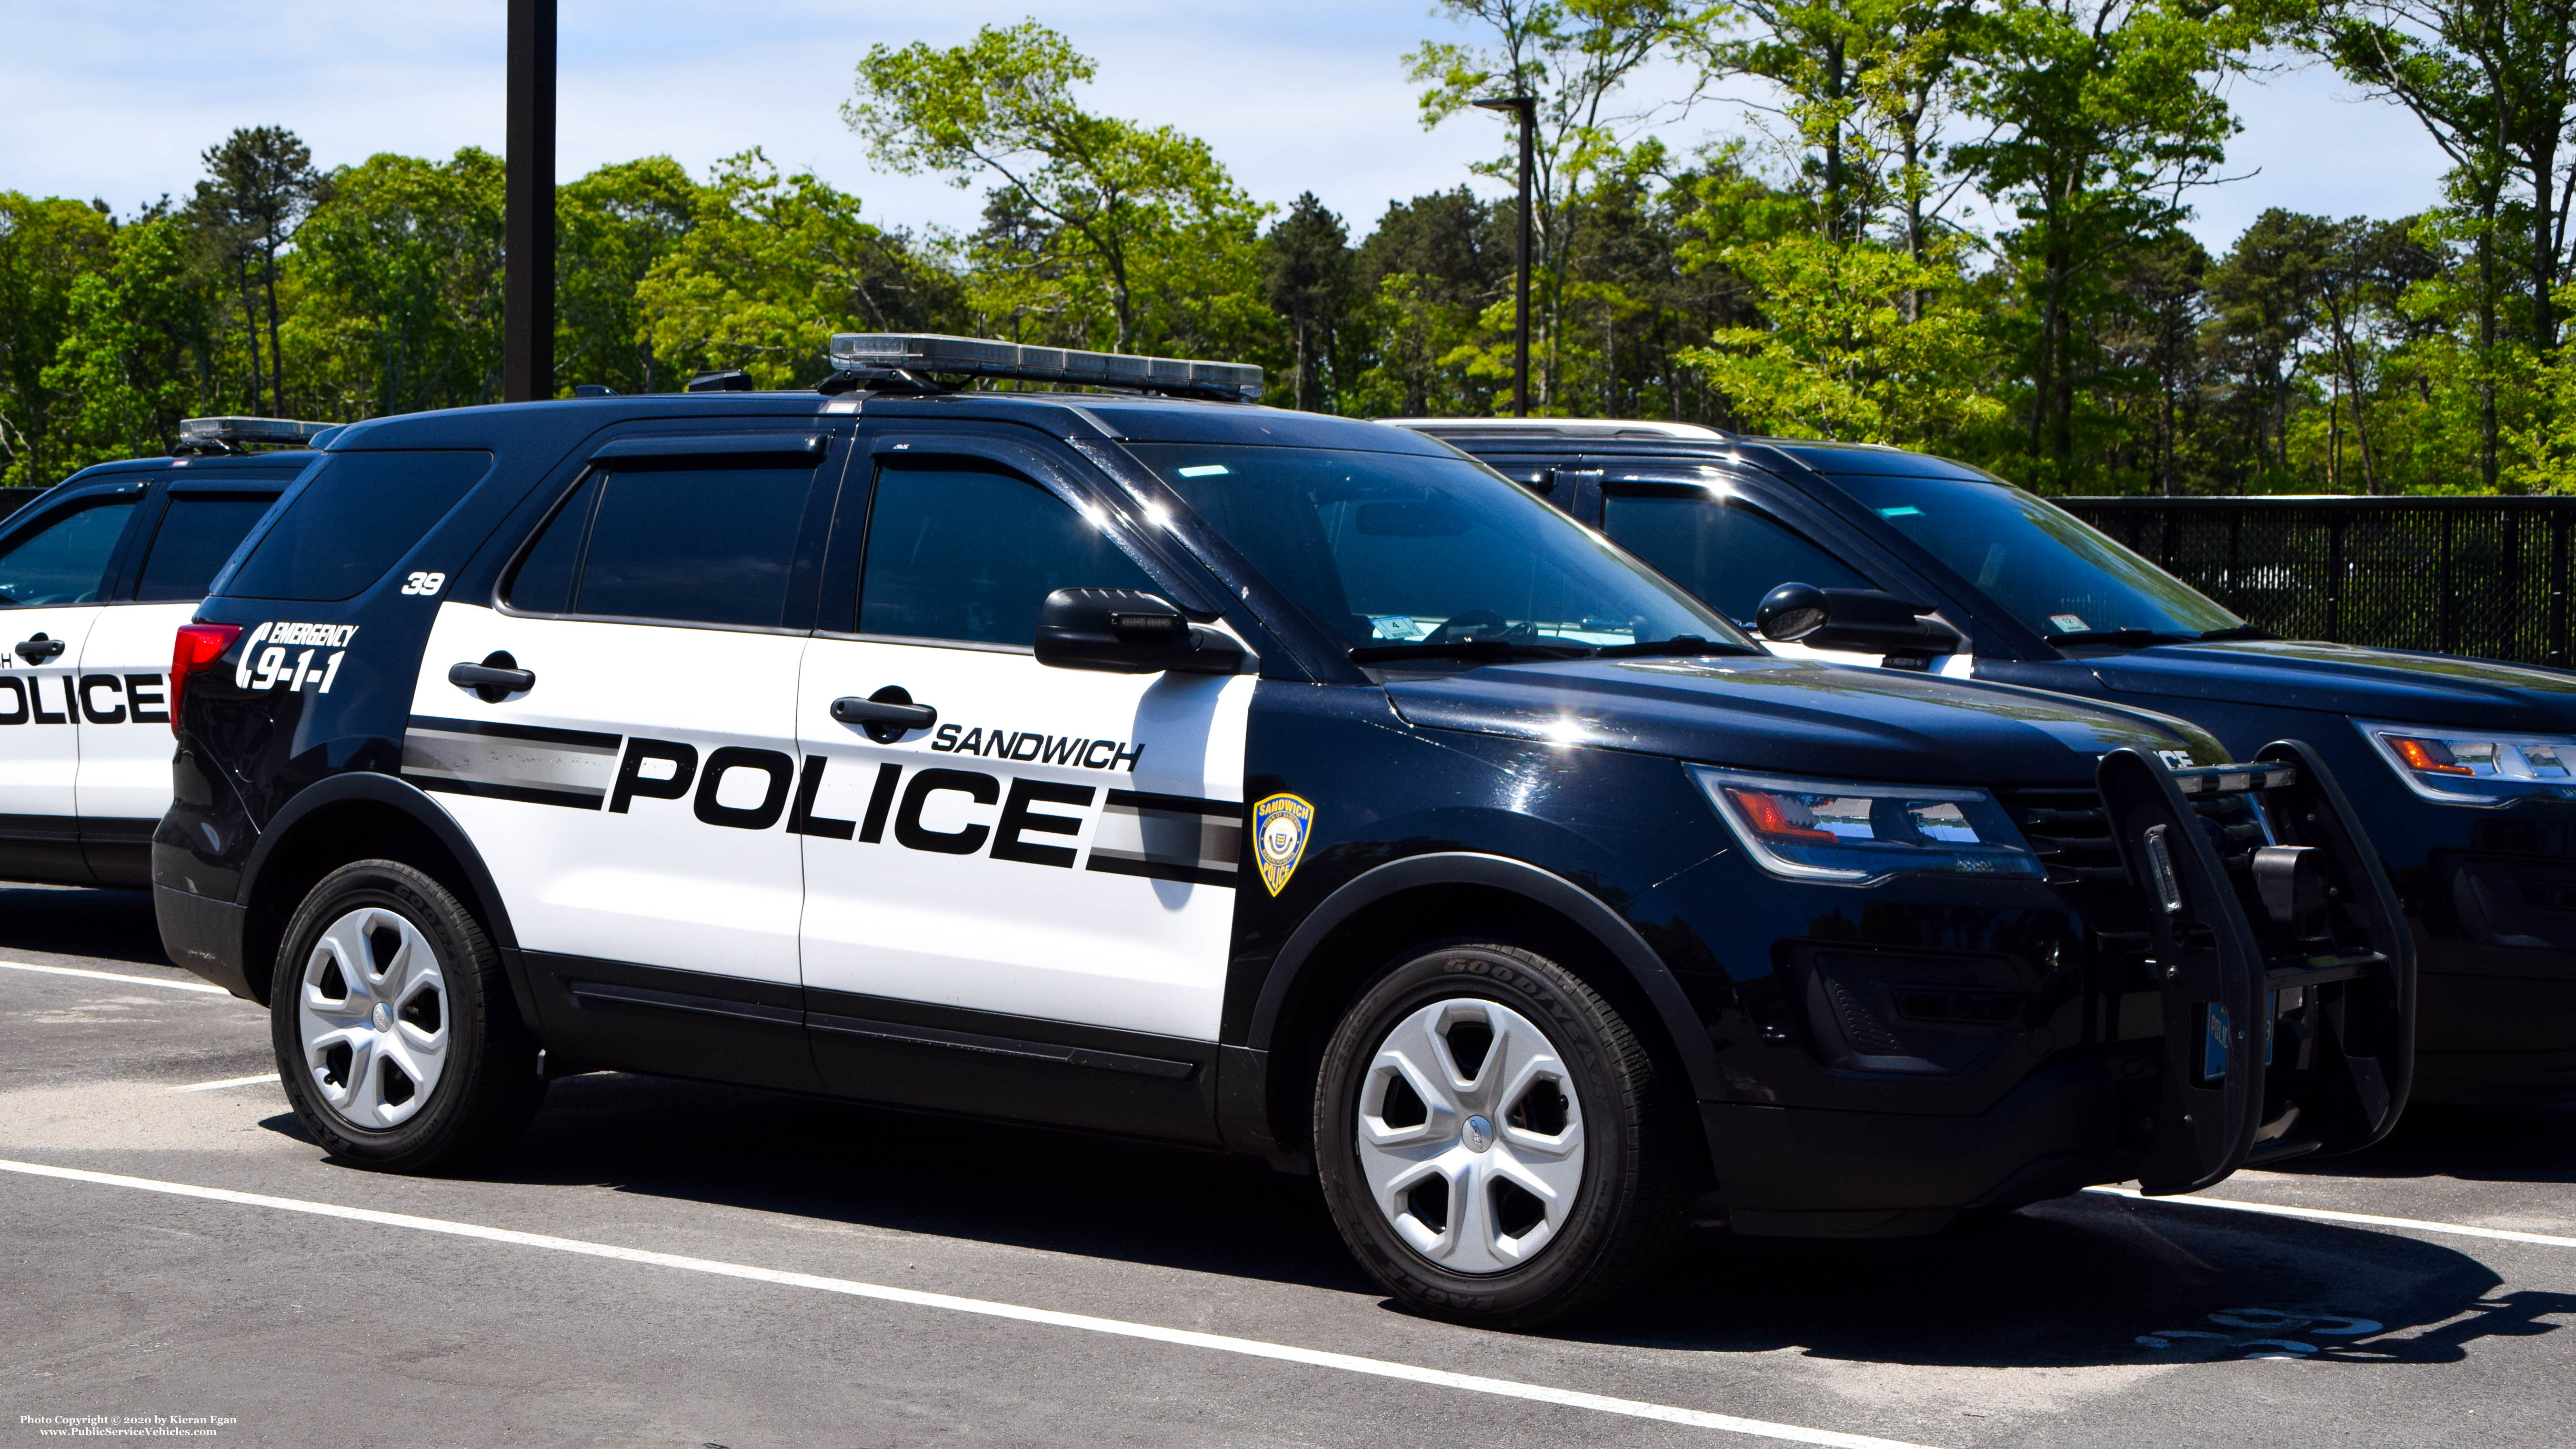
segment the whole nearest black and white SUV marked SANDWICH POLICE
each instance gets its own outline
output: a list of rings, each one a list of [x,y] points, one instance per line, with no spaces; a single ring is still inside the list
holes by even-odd
[[[2300,745],[1772,657],[1257,369],[835,358],[350,425],[180,634],[162,938],[332,1155],[585,1067],[1221,1145],[1510,1325],[1695,1212],[1924,1232],[2406,1098]]]

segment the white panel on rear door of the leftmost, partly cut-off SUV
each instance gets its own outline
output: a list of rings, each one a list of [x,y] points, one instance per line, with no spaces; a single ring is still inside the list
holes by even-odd
[[[90,624],[80,647],[82,820],[160,820],[170,810],[170,645],[193,616],[196,601],[116,603]]]

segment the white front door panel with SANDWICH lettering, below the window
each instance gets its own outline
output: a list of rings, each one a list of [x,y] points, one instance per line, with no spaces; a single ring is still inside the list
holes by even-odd
[[[938,727],[878,745],[832,719],[884,686]],[[1234,895],[1260,890],[1236,882],[1252,688],[817,639],[806,985],[1213,1042]],[[1015,786],[1051,799],[1012,812]]]

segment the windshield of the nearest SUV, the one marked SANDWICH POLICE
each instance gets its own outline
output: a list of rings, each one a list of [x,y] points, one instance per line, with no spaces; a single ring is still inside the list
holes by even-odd
[[[1687,593],[1453,456],[1128,443],[1345,645],[1592,652],[1695,637],[1757,652]]]

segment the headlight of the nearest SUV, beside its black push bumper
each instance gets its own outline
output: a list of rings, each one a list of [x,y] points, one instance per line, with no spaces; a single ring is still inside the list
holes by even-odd
[[[1687,768],[1736,841],[1775,877],[1842,884],[1893,874],[2048,877],[1984,789]]]

